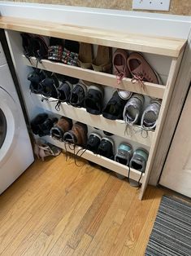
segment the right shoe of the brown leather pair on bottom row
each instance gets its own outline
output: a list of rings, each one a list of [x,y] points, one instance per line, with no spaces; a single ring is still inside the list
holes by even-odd
[[[63,140],[79,146],[85,146],[87,143],[88,127],[77,121],[73,126],[72,130],[68,130],[63,135]]]

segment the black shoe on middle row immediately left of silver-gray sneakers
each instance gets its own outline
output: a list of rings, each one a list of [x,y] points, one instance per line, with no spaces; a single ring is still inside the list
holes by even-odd
[[[126,102],[127,100],[121,99],[117,90],[115,90],[112,98],[103,109],[102,116],[111,120],[123,119],[124,106]]]

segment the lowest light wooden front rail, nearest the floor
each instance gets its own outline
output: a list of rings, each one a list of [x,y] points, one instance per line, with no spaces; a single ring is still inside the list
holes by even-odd
[[[65,146],[66,146],[67,152],[74,153],[74,151],[71,148],[69,148],[67,146],[67,144],[64,145],[65,143],[60,142],[59,140],[52,139],[50,136],[44,136],[44,137],[42,137],[42,139],[45,139],[48,143],[51,143],[59,148],[63,148],[64,151],[66,150],[66,148],[65,148]],[[76,146],[75,152],[77,152],[80,148],[81,147]],[[112,161],[106,157],[102,157],[100,155],[95,155],[95,154],[93,154],[93,152],[91,152],[89,150],[86,150],[81,157],[83,157],[89,161],[93,161],[94,163],[96,163],[100,166],[106,167],[109,170],[113,170],[118,174],[124,175],[125,177],[128,177],[128,166],[121,165],[118,162]],[[131,168],[131,172],[130,172],[131,179],[138,181],[140,176],[141,176],[140,171],[137,171],[137,170],[134,170]],[[142,174],[141,181],[142,181],[143,177],[144,177],[144,174]]]

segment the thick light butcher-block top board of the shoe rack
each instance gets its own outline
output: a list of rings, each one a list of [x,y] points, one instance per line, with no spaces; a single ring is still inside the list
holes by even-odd
[[[186,42],[184,39],[151,37],[9,16],[0,17],[0,28],[171,57],[178,57]]]

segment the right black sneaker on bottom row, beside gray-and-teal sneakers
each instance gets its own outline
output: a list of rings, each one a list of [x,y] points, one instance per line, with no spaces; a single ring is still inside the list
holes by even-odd
[[[109,138],[102,138],[101,143],[98,147],[98,154],[102,157],[107,157],[111,160],[114,160],[114,142]]]

